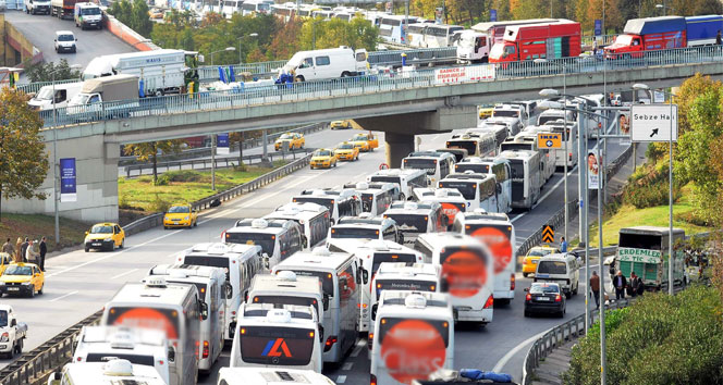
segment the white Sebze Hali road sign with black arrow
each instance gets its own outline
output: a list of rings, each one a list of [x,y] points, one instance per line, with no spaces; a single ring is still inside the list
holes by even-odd
[[[672,126],[671,126],[672,123]],[[677,104],[633,104],[633,141],[677,141]]]

